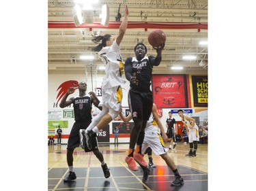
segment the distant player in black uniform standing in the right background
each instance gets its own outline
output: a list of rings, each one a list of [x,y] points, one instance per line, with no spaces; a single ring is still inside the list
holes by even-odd
[[[171,111],[169,111],[169,118],[167,118],[166,120],[166,127],[167,127],[167,137],[168,137],[168,141],[170,143],[169,145],[169,150],[171,150],[172,148],[175,149],[176,146],[176,137],[175,135],[177,135],[177,124],[176,124],[176,120],[175,118],[171,118],[171,116],[173,115],[173,113],[171,113]]]

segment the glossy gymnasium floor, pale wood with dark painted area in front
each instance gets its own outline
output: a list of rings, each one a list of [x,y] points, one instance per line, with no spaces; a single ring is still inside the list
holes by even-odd
[[[153,154],[156,168],[152,168],[149,179],[143,184],[143,171],[130,171],[124,162],[128,144],[119,143],[117,147],[113,144],[99,143],[99,146],[111,171],[111,177],[104,177],[100,162],[92,152],[85,153],[78,147],[74,151],[74,172],[77,178],[71,183],[63,182],[68,175],[66,145],[48,146],[48,190],[208,190],[208,145],[199,144],[197,156],[193,158],[185,156],[188,154],[189,145],[184,143],[178,143],[175,150],[167,152],[184,179],[183,186],[170,186],[174,175],[160,156]],[[147,156],[145,161],[148,162]]]

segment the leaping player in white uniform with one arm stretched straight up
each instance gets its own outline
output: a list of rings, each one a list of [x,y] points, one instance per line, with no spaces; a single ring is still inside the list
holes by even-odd
[[[94,43],[100,43],[93,51],[98,52],[100,60],[105,65],[105,77],[102,82],[102,111],[98,114],[85,131],[86,144],[91,149],[91,138],[96,136],[104,126],[109,124],[113,119],[117,118],[119,108],[122,102],[122,73],[124,72],[124,61],[120,54],[120,44],[126,32],[128,25],[128,7],[125,5],[124,20],[120,24],[119,34],[117,38],[111,35],[98,35],[93,37]],[[81,139],[81,143],[83,140]]]

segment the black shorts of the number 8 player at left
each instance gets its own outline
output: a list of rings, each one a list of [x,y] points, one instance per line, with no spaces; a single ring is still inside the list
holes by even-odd
[[[68,138],[67,149],[74,149],[76,147],[79,147],[80,145],[79,130],[86,129],[90,123],[91,123],[91,120],[86,120],[83,122],[74,122],[72,129],[70,131],[70,137]]]

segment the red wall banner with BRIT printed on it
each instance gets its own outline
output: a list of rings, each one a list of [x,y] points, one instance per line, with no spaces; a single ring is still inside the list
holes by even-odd
[[[152,92],[158,108],[188,107],[186,75],[152,75]]]

